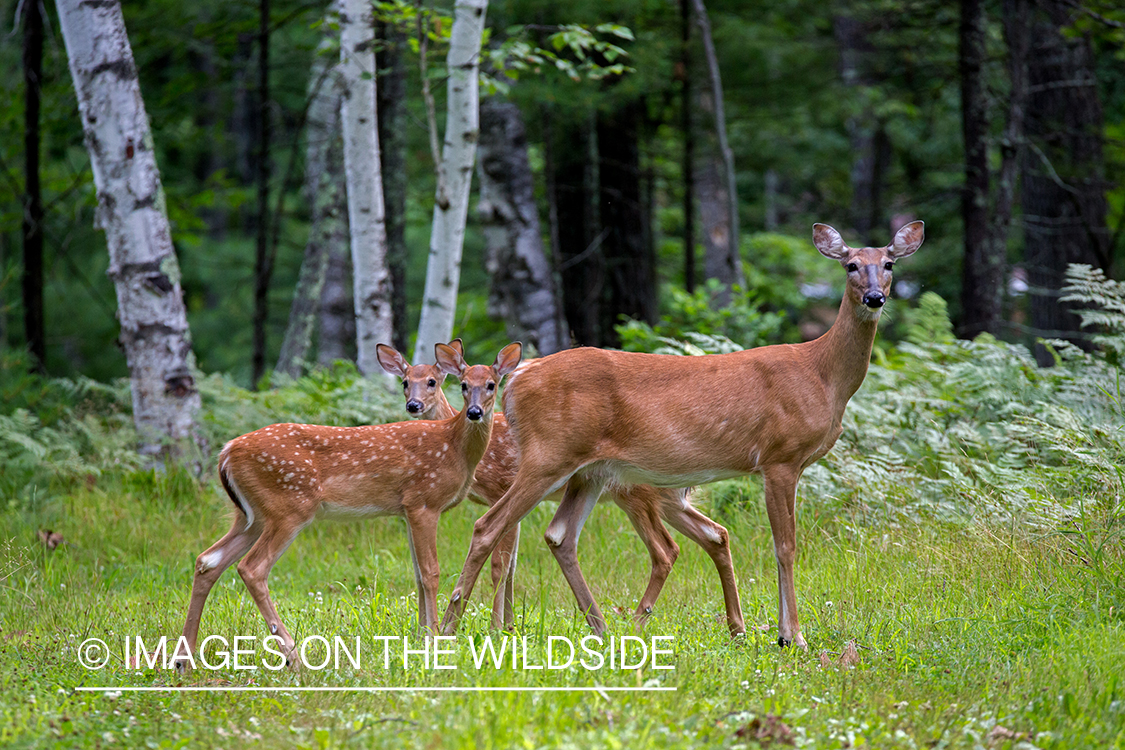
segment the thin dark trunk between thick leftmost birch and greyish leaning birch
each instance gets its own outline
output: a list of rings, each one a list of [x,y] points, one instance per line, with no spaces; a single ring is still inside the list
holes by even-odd
[[[259,0],[258,16],[258,243],[254,254],[254,340],[251,387],[266,373],[266,323],[270,277],[270,0]]]

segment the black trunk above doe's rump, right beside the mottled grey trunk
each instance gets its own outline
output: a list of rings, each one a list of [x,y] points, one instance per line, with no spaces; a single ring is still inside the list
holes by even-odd
[[[551,120],[554,115],[547,112],[547,119]],[[555,206],[551,234],[557,235],[555,257],[562,282],[562,308],[574,343],[600,346],[605,236],[595,228],[596,164],[591,156],[591,128],[587,124],[569,126],[556,121],[550,130]]]

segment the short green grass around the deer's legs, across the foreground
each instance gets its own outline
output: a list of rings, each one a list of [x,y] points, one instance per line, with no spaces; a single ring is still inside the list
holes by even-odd
[[[749,480],[739,487],[746,497],[757,494]],[[730,490],[701,490],[698,503],[706,509]],[[829,508],[802,494],[798,594],[808,653],[776,645],[776,576],[760,504],[728,503],[721,519],[731,532],[749,633],[727,635],[710,560],[677,537],[682,554],[644,633],[674,636],[674,670],[478,671],[462,639],[459,668],[449,671],[388,671],[381,653],[368,651],[359,671],[199,669],[181,679],[126,669],[119,639],[178,636],[192,563],[226,530],[230,504],[215,482],[183,473],[107,472],[34,509],[0,515],[0,746],[734,748],[756,747],[755,728],[772,726],[774,715],[799,747],[1120,748],[1125,555],[1120,499],[1108,495],[1083,505],[1063,533],[1020,519],[872,523],[858,509]],[[518,573],[518,633],[537,649],[549,634],[577,641],[588,632],[541,540],[552,512],[540,506],[524,522]],[[442,521],[440,607],[478,513],[465,504]],[[68,544],[46,551],[36,540],[40,527],[61,531]],[[634,606],[648,558],[612,505],[591,517],[580,560],[610,632],[631,634],[618,613]],[[487,632],[486,578],[462,624],[466,638]],[[314,524],[270,582],[298,641],[417,636],[398,519]],[[266,635],[233,570],[204,614],[201,635],[213,633]],[[118,651],[99,672],[78,663],[76,645],[90,636]],[[849,641],[858,663],[842,668],[838,656]],[[74,689],[181,684],[648,684],[676,692],[107,696]],[[760,742],[771,744],[768,737]]]

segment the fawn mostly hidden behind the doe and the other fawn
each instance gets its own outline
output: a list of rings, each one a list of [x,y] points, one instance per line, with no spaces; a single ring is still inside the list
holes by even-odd
[[[461,350],[460,338],[451,341],[449,345],[458,351]],[[441,390],[444,374],[435,371],[434,365],[415,364],[412,367],[398,352],[384,344],[379,345],[379,362],[387,372],[403,379],[403,395],[406,397],[407,412],[417,414],[425,419],[440,419],[453,413],[453,407],[446,400],[446,395]],[[522,363],[520,371],[513,376],[513,381],[516,377],[522,377],[520,373],[523,370],[534,367],[534,362],[536,360],[531,360]],[[496,505],[512,486],[518,463],[519,454],[515,442],[508,432],[507,421],[504,415],[497,414],[493,418],[492,442],[488,443],[488,450],[480,459],[480,463],[477,464],[469,497],[476,498],[484,505]],[[582,487],[584,486],[576,484],[576,491]],[[680,546],[664,527],[663,519],[702,546],[714,561],[722,585],[727,624],[732,634],[745,632],[746,626],[742,621],[742,608],[738,600],[738,587],[735,582],[735,570],[730,560],[727,530],[692,507],[687,500],[687,493],[683,489],[611,482],[606,486],[606,490],[610,498],[629,516],[629,521],[649,553],[651,563],[649,580],[634,613],[637,624],[642,625],[651,615],[660,589],[664,588],[668,575],[672,572],[672,567],[680,555]],[[554,499],[561,499],[564,493],[558,491],[552,495],[557,495]],[[591,627],[596,633],[602,633],[605,630],[605,618],[582,575],[577,555],[578,535],[596,501],[597,494],[594,494],[587,496],[585,501],[580,504],[572,504],[569,506],[572,513],[562,515],[560,510],[560,515],[556,516],[556,519],[548,527],[546,539],[570,584],[578,600],[578,608],[585,613]],[[515,532],[514,541],[512,540],[513,531]],[[492,578],[493,586],[496,587],[496,595],[493,599],[494,627],[498,627],[501,622],[505,625],[510,625],[512,622],[512,579],[515,575],[518,545],[519,525],[507,532],[492,553]],[[510,557],[508,552],[511,552]],[[501,555],[500,560],[497,560],[497,554]],[[503,567],[504,561],[510,561],[506,569]],[[504,597],[501,596],[502,589],[500,587],[502,578],[505,579]],[[501,616],[502,612],[503,616]]]

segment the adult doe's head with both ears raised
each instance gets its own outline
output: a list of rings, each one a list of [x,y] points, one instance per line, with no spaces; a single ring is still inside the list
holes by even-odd
[[[879,317],[891,293],[894,262],[914,254],[925,238],[921,222],[907,224],[885,247],[848,247],[839,233],[827,224],[812,225],[812,242],[825,257],[840,262],[847,273],[844,295],[861,317]]]

